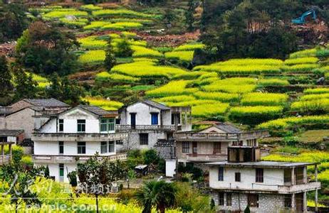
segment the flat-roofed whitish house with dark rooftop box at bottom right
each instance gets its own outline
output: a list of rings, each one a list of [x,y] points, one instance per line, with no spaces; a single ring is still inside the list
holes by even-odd
[[[320,189],[315,163],[260,161],[258,147],[230,146],[228,160],[207,163],[209,187],[216,208],[223,212],[307,211],[307,192]],[[307,167],[315,165],[315,181]],[[317,193],[315,192],[315,203]]]

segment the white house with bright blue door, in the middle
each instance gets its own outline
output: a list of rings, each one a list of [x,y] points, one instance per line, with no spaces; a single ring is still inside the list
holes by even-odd
[[[167,107],[144,100],[122,108],[118,123],[118,129],[130,133],[128,143],[120,149],[167,147],[163,150],[171,152],[174,158],[173,133],[192,129],[191,107]],[[162,156],[170,158],[165,152]]]

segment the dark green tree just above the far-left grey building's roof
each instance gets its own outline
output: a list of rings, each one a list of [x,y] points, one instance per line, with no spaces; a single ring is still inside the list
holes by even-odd
[[[32,75],[26,74],[19,66],[14,66],[12,72],[14,73],[15,101],[36,97],[38,83],[33,80]]]

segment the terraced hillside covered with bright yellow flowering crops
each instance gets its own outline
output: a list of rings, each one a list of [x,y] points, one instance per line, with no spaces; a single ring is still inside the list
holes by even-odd
[[[187,9],[187,1],[172,1],[170,6],[53,4],[29,7],[28,17],[76,36],[80,46],[70,54],[78,57],[78,70],[68,78],[85,89],[82,101],[115,110],[138,99],[152,99],[167,106],[191,106],[194,129],[213,124],[204,121],[268,129],[272,137],[262,143],[279,147],[266,159],[321,163],[320,201],[328,204],[329,154],[323,141],[329,127],[329,45],[298,44],[300,50],[285,58],[204,62],[200,55],[209,46],[202,43],[199,29],[202,6],[194,8],[192,31],[185,23]],[[168,10],[176,17],[170,18]],[[312,36],[326,36],[325,21],[305,25],[306,30],[294,27],[307,37],[310,28],[318,26],[323,26],[320,34]],[[109,38],[116,58],[110,70],[104,66]],[[33,73],[39,90],[49,87],[49,78]],[[324,151],[313,153],[314,149]]]

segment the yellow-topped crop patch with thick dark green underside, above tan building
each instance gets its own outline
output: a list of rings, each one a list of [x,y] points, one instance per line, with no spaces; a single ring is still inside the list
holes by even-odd
[[[282,107],[232,107],[229,111],[229,118],[241,124],[255,125],[278,119],[282,114],[282,110]]]

